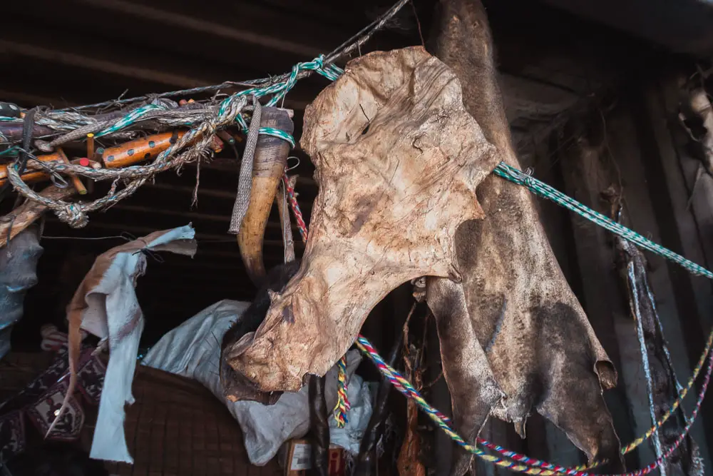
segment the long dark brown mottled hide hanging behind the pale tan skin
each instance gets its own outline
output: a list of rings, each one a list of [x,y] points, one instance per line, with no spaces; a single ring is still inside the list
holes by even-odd
[[[519,168],[486,11],[480,0],[447,0],[441,6],[436,56],[461,80],[468,112],[502,160]],[[448,328],[461,329],[450,336],[438,329],[456,427],[472,440],[492,411],[513,422],[524,437],[528,415],[537,411],[590,460],[607,458],[617,472],[622,468],[620,442],[602,397],[602,388],[616,385],[617,373],[558,266],[532,196],[524,187],[488,176],[478,188],[478,200],[486,219],[468,221],[456,234],[462,285],[446,283],[426,292],[436,317],[443,316]],[[506,395],[497,405],[482,396],[488,393],[478,378],[483,363],[476,346],[465,356],[453,351],[461,348],[453,343],[466,340],[480,343],[486,352]],[[456,451],[461,456],[452,472],[460,475],[471,457]]]

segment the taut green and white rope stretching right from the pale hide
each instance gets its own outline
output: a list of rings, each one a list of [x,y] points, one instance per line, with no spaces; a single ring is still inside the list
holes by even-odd
[[[639,233],[636,233],[625,226],[621,226],[619,223],[612,221],[607,216],[602,215],[602,213],[594,211],[588,206],[583,205],[583,203],[579,203],[574,198],[566,196],[564,193],[548,186],[548,184],[543,181],[539,181],[537,178],[530,176],[528,173],[519,171],[515,167],[508,166],[508,164],[504,162],[498,163],[498,166],[496,166],[493,172],[501,178],[505,178],[508,181],[527,187],[531,192],[535,193],[535,195],[548,198],[548,200],[578,213],[580,216],[587,218],[589,221],[596,223],[602,228],[606,228],[608,231],[616,233],[622,238],[635,243],[640,248],[644,248],[645,250],[649,250],[652,253],[656,253],[657,255],[672,260],[674,263],[678,263],[694,275],[705,276],[706,278],[713,279],[713,273],[706,268],[703,268],[701,265],[697,265],[693,261],[687,260],[682,255],[674,253],[672,250],[654,243],[652,240],[641,236]]]

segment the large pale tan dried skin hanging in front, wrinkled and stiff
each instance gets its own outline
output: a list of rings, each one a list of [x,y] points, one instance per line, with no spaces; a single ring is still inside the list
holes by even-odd
[[[319,182],[302,265],[229,362],[262,391],[324,375],[401,283],[459,279],[453,237],[483,216],[476,186],[498,163],[461,84],[421,47],[350,61],[307,108],[302,146]]]

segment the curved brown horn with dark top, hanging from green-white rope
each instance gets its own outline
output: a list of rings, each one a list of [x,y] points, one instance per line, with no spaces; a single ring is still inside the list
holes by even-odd
[[[287,111],[275,107],[262,108],[260,127],[272,127],[290,134],[294,131]],[[287,165],[288,154],[289,143],[281,138],[260,134],[257,139],[250,205],[237,235],[242,262],[245,263],[250,279],[257,286],[265,279],[262,238],[265,237],[267,218],[270,216],[272,202],[275,201],[279,180]]]

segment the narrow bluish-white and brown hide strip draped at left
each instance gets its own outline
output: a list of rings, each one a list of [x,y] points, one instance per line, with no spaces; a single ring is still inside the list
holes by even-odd
[[[93,459],[133,462],[126,447],[123,422],[124,404],[134,401],[131,382],[144,323],[134,289],[146,270],[143,251],[170,251],[192,257],[197,246],[194,235],[193,226],[187,225],[155,231],[111,248],[96,258],[67,306],[70,383],[63,408],[76,383],[81,329],[108,342],[111,354],[92,441]]]

